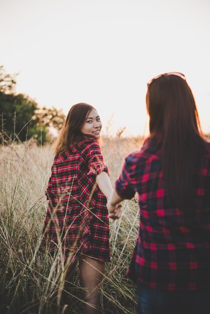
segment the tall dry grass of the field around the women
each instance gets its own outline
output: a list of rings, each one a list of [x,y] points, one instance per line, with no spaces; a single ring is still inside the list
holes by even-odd
[[[111,181],[118,178],[125,156],[141,142],[106,137],[102,153]],[[0,147],[0,313],[82,313],[78,269],[69,284],[68,306],[58,302],[64,264],[40,252],[47,207],[45,189],[53,151],[31,141]],[[110,223],[112,260],[101,284],[102,313],[136,313],[135,285],[125,277],[138,232],[138,205],[125,201],[119,221]]]

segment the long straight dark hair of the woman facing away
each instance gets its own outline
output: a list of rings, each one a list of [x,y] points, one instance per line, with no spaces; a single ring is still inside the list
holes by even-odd
[[[148,86],[146,96],[151,141],[161,134],[161,166],[165,189],[177,205],[193,201],[193,173],[204,155],[204,141],[192,91],[185,79],[163,75]],[[189,205],[191,206],[191,205]]]

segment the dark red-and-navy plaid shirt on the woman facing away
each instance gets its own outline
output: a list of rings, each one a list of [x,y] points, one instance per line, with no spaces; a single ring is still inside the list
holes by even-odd
[[[140,229],[128,276],[152,288],[196,290],[210,287],[210,143],[202,169],[195,169],[193,208],[177,208],[163,187],[161,141],[145,141],[130,154],[116,182],[119,196],[138,192]]]

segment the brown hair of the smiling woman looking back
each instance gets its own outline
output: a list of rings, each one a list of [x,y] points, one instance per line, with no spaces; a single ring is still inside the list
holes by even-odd
[[[55,154],[64,152],[74,142],[85,138],[80,129],[85,122],[88,113],[95,109],[84,102],[73,105],[54,143]]]

